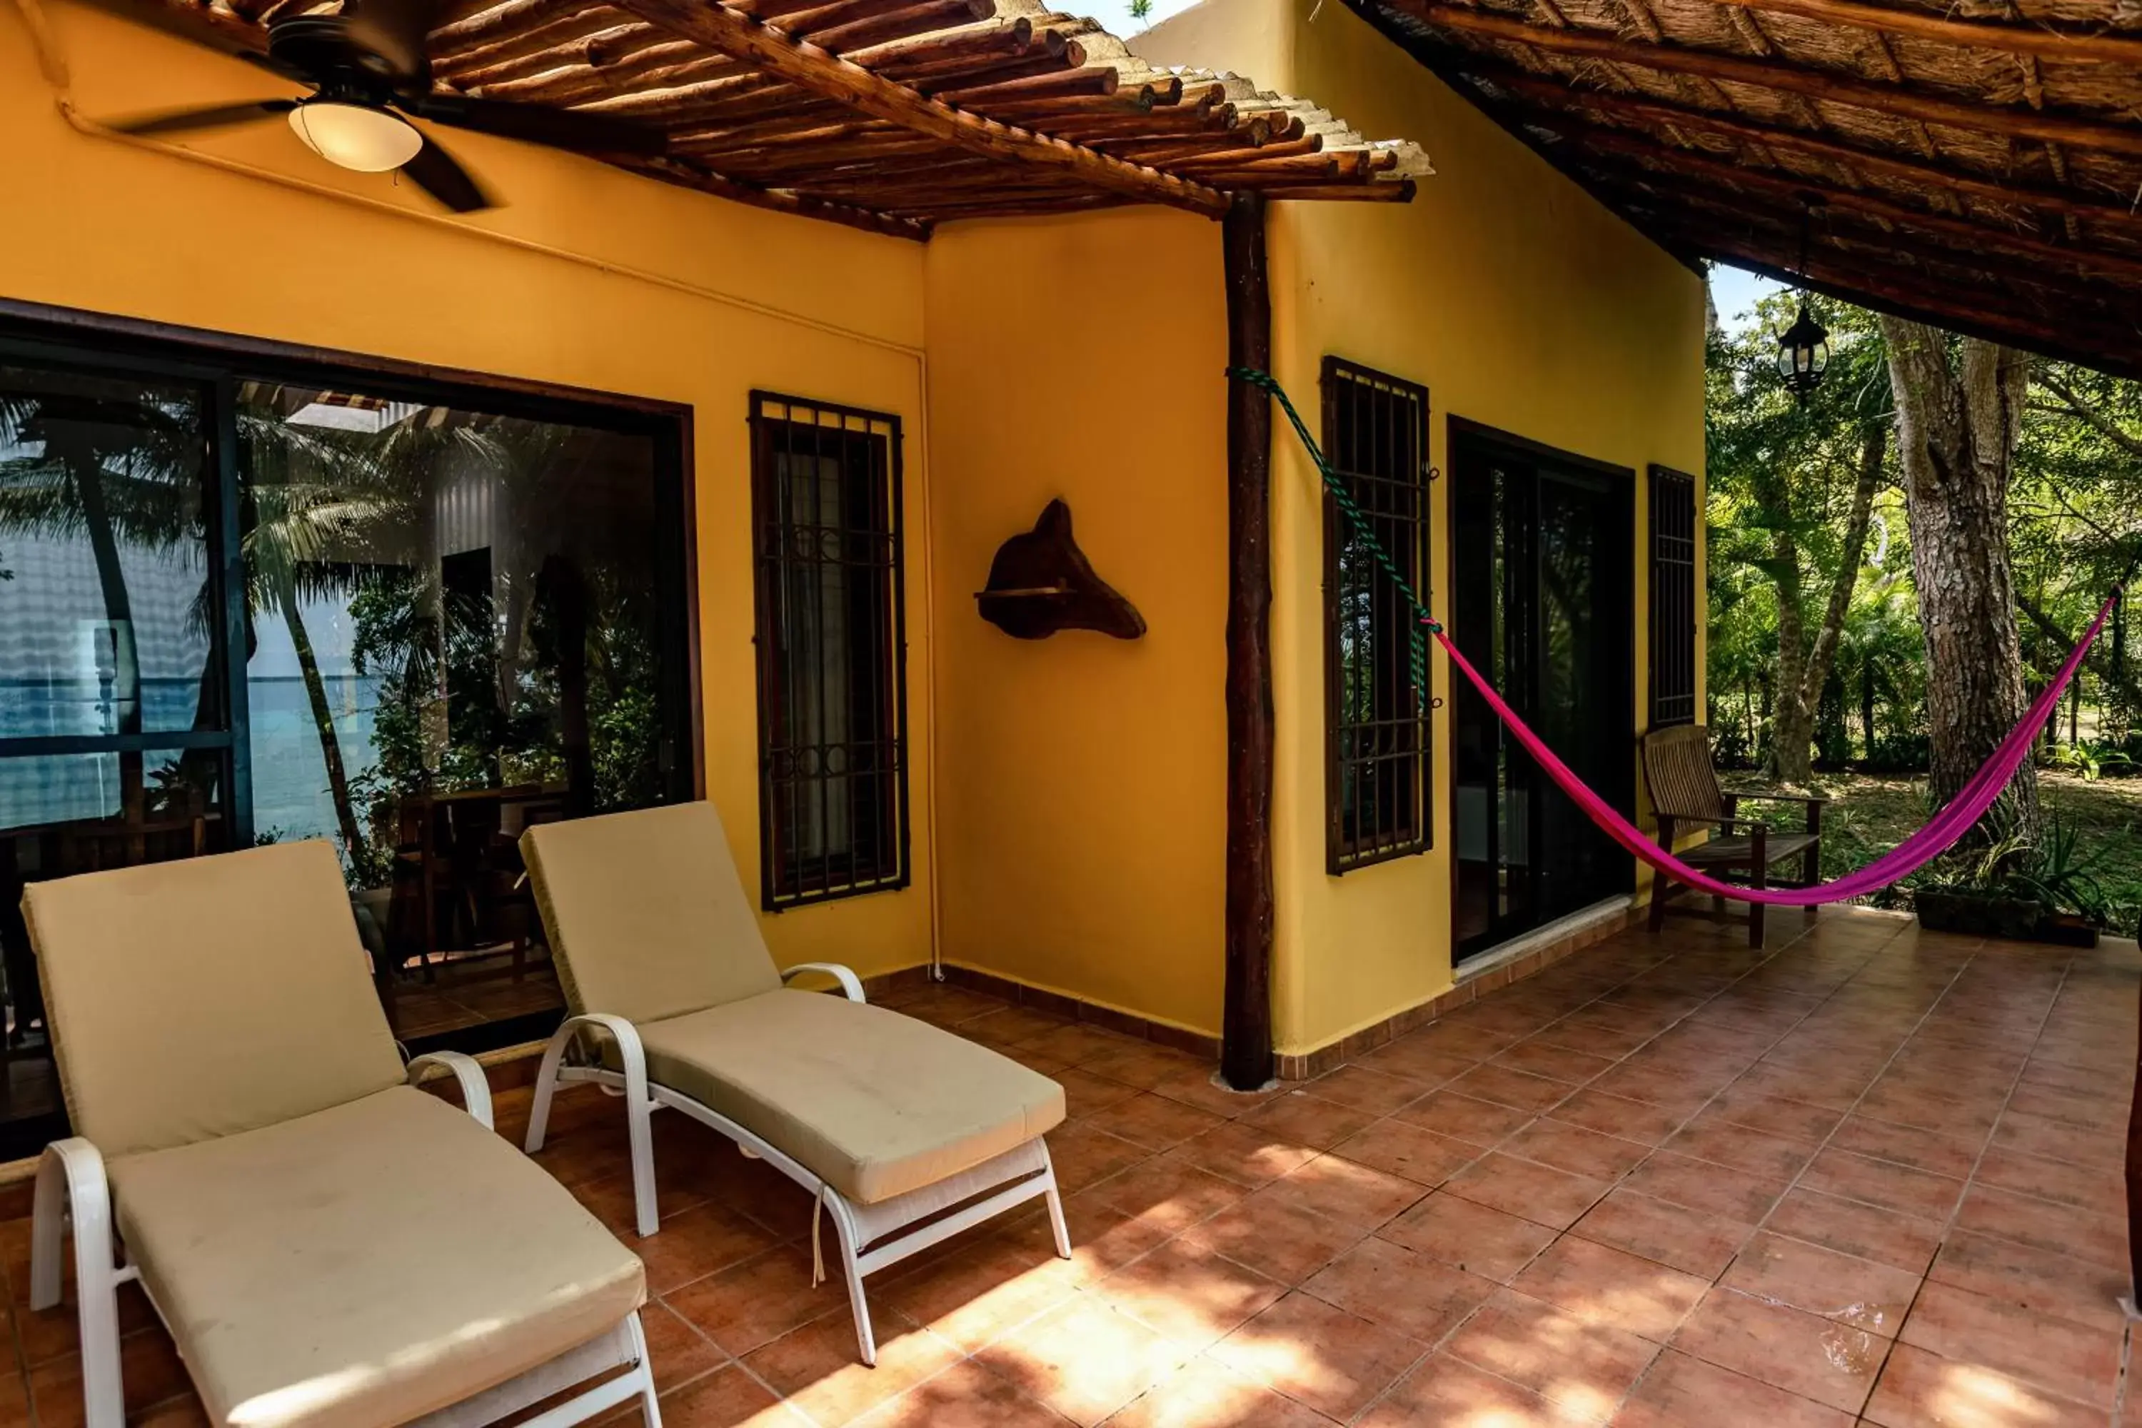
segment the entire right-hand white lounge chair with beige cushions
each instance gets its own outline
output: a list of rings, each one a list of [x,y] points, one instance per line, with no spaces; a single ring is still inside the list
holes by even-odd
[[[675,1107],[818,1197],[840,1235],[863,1362],[863,1276],[1035,1197],[1071,1255],[1043,1133],[1056,1081],[987,1047],[868,1006],[842,966],[775,970],[709,803],[555,822],[521,835],[572,1015],[536,1077],[529,1154],[559,1081],[623,1092],[632,1192],[655,1233],[651,1115]],[[784,989],[833,976],[846,998]],[[589,1064],[563,1064],[583,1032]],[[816,1218],[812,1242],[816,1248]]]

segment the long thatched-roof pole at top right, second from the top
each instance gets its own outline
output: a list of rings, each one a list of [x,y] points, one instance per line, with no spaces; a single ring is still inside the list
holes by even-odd
[[[2039,143],[2071,143],[2076,148],[2108,154],[2142,156],[2142,128],[2118,128],[2114,124],[2093,124],[2069,120],[2035,109],[2007,109],[1994,105],[1968,105],[1954,98],[1936,98],[1902,86],[1879,86],[1849,79],[1821,69],[1791,64],[1786,60],[1746,60],[1741,56],[1716,54],[1711,49],[1688,49],[1681,45],[1645,45],[1624,41],[1596,30],[1555,30],[1534,26],[1510,15],[1476,11],[1435,0],[1382,0],[1390,11],[1416,19],[1444,32],[1484,34],[1499,41],[1517,41],[1551,54],[1581,56],[1587,60],[1611,60],[1615,64],[1639,64],[1643,69],[1673,75],[1699,75],[1726,83],[1746,83],[1761,90],[1784,90],[1806,94],[1838,105],[1896,113],[1930,124],[1951,124],[1979,133],[2003,135],[2007,139],[2037,139]]]

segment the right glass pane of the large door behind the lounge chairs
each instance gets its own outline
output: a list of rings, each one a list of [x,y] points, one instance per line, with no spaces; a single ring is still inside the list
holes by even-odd
[[[555,1011],[521,831],[666,792],[653,441],[276,383],[238,432],[255,837],[341,850],[401,1036]]]

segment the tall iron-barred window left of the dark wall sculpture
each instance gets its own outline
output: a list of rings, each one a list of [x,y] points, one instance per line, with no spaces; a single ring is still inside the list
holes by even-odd
[[[769,910],[908,882],[900,417],[752,394]]]

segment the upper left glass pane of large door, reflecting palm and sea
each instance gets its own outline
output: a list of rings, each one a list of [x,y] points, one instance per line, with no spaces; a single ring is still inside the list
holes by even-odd
[[[193,388],[0,366],[0,739],[223,728],[203,465]]]

